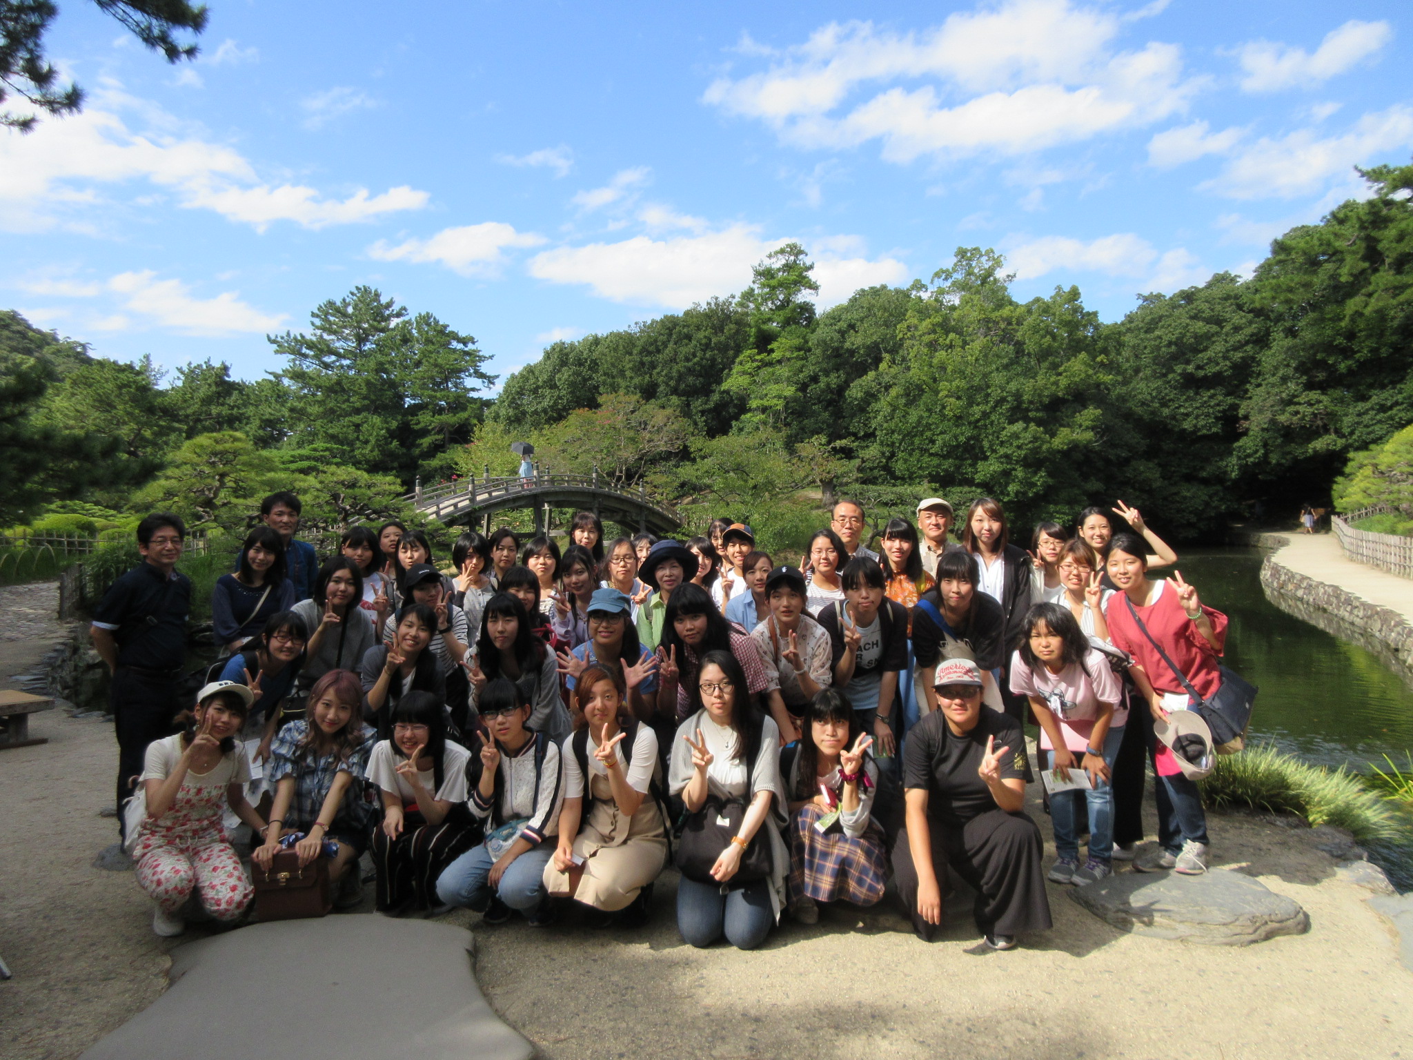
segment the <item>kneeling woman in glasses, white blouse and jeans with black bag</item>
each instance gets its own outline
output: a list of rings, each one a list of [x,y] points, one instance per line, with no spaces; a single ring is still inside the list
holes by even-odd
[[[790,865],[780,837],[786,820],[780,729],[752,705],[746,674],[731,652],[702,657],[690,695],[697,709],[677,729],[668,787],[691,814],[716,813],[729,800],[745,803],[746,813],[712,865],[711,882],[684,875],[677,885],[677,930],[692,946],[711,946],[725,936],[736,948],[753,950],[780,919]],[[770,872],[764,879],[732,883],[762,830]]]

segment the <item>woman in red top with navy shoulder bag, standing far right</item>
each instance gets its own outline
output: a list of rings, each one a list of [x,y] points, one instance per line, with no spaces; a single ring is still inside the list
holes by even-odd
[[[1129,673],[1149,702],[1154,721],[1170,711],[1188,709],[1191,697],[1153,637],[1204,697],[1221,687],[1217,660],[1226,642],[1226,616],[1205,606],[1197,589],[1174,571],[1167,581],[1147,578],[1147,548],[1135,534],[1116,534],[1109,543],[1109,579],[1118,592],[1109,598],[1105,618],[1109,640],[1133,657]],[[1147,636],[1145,635],[1147,629]],[[1159,856],[1135,862],[1139,872],[1176,869],[1188,876],[1207,872],[1207,815],[1197,783],[1183,776],[1173,752],[1159,745],[1153,759],[1157,773]]]

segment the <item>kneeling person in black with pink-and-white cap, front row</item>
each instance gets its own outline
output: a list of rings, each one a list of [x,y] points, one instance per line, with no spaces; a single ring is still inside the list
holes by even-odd
[[[976,927],[993,950],[1050,927],[1036,823],[1022,813],[1030,765],[1020,722],[983,708],[981,670],[969,659],[937,667],[938,709],[903,749],[907,828],[893,845],[904,912],[923,941],[942,923],[947,866],[976,889]]]

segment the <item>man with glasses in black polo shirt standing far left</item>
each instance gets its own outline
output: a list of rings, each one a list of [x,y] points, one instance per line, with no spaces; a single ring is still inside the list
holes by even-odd
[[[187,657],[191,581],[177,572],[187,527],[170,512],[137,524],[143,565],[113,582],[93,612],[89,636],[113,674],[117,732],[119,831],[123,800],[143,773],[147,745],[174,732],[182,709],[177,687]]]

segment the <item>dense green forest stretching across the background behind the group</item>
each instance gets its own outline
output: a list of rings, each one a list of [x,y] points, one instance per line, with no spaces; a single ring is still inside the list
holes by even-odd
[[[976,247],[817,312],[791,243],[736,297],[551,345],[495,400],[475,339],[366,287],[270,336],[284,367],[257,382],[209,362],[162,379],[0,314],[0,526],[86,502],[237,529],[274,482],[336,526],[418,475],[509,473],[514,440],[776,547],[841,493],[879,513],[989,493],[1020,522],[1122,497],[1176,538],[1290,517],[1413,424],[1413,167],[1365,177],[1251,278],[1113,324],[1075,287],[1017,301]]]

